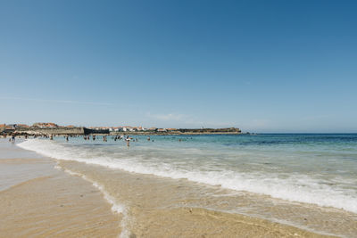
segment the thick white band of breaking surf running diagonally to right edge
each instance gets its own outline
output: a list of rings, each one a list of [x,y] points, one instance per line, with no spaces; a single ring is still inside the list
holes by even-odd
[[[159,164],[145,165],[138,160],[125,158],[111,158],[105,153],[91,158],[84,148],[72,144],[60,144],[46,140],[28,140],[18,144],[21,148],[38,152],[57,160],[76,160],[79,162],[104,166],[106,168],[122,169],[139,174],[170,177],[175,179],[186,178],[190,181],[220,185],[236,191],[246,191],[269,195],[286,201],[315,204],[320,207],[345,209],[357,213],[357,196],[355,191],[340,189],[321,184],[319,180],[305,175],[290,175],[281,179],[276,175],[262,173],[237,173],[235,171],[202,171],[179,170],[175,168],[160,168]]]

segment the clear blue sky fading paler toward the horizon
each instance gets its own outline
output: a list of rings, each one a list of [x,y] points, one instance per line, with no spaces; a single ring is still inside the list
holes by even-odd
[[[357,132],[356,1],[0,0],[0,123]]]

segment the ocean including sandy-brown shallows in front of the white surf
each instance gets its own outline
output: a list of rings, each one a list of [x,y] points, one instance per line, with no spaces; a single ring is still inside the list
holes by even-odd
[[[111,193],[115,177],[95,176],[96,168],[186,183],[191,190],[181,194],[185,206],[262,217],[320,234],[357,234],[357,134],[131,137],[129,146],[112,136],[107,142],[102,136],[29,139],[18,146],[63,161],[62,169],[100,185],[120,211],[130,209],[130,202]],[[94,170],[71,167],[73,160]],[[177,197],[168,198],[165,206],[183,206]]]

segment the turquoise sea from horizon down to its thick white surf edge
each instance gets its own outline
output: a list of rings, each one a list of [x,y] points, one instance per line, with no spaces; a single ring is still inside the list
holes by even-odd
[[[357,213],[357,134],[152,135],[30,139],[22,148]],[[154,140],[154,142],[153,142]]]

